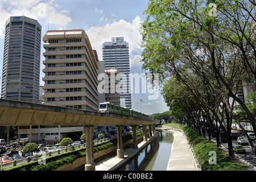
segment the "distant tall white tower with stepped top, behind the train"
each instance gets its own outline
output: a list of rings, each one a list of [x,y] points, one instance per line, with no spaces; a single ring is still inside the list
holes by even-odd
[[[119,70],[121,106],[131,109],[129,43],[123,37],[113,37],[112,42],[102,43],[102,57],[105,69]],[[125,99],[125,105],[122,105],[122,99]]]

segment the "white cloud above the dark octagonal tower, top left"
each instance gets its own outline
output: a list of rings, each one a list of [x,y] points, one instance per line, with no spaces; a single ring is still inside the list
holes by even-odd
[[[0,5],[0,16],[3,20],[0,23],[0,36],[5,33],[5,21],[10,16],[27,16],[29,18],[37,19],[40,24],[49,23],[57,26],[65,26],[72,19],[69,17],[69,11],[57,10],[59,5],[54,3],[54,0],[48,2],[41,2],[41,0],[16,0],[16,1],[2,1]],[[8,7],[4,9],[4,7]],[[40,22],[44,21],[44,22]]]

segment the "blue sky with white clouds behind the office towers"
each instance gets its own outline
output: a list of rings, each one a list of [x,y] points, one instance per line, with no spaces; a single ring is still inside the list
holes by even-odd
[[[146,18],[143,11],[150,0],[0,0],[0,76],[2,77],[3,44],[5,23],[10,16],[27,16],[38,20],[42,25],[42,39],[48,30],[83,29],[89,36],[93,49],[102,61],[102,43],[110,42],[112,37],[123,36],[129,43],[130,72],[143,75],[139,46],[142,35],[140,24]],[[43,40],[41,46],[40,85],[44,85],[42,64],[45,59]],[[168,110],[162,95],[147,89],[135,92],[138,82],[132,86],[132,107],[146,114],[163,113]],[[144,85],[139,83],[140,88]],[[155,97],[149,97],[156,93]],[[142,101],[143,102],[142,102]]]

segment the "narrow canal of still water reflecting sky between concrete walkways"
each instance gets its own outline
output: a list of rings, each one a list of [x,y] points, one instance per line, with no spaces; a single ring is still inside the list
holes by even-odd
[[[171,132],[158,130],[159,135],[119,171],[166,171],[174,137]]]

